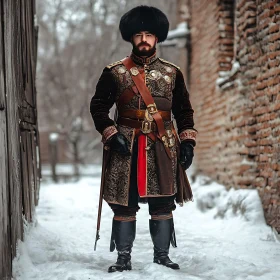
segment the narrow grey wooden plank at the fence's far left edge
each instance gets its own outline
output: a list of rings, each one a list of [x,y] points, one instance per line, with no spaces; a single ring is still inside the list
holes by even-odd
[[[0,279],[10,279],[12,271],[9,181],[7,152],[7,111],[5,96],[5,53],[3,3],[0,2]]]

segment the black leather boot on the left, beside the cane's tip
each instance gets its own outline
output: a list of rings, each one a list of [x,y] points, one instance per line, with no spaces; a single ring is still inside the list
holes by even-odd
[[[136,221],[113,220],[110,251],[118,251],[117,262],[111,265],[108,272],[131,270],[131,249],[135,239]]]

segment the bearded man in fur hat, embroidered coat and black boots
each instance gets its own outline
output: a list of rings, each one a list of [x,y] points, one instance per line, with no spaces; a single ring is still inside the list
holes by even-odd
[[[110,250],[116,247],[118,258],[109,272],[131,270],[139,201],[149,204],[154,262],[179,269],[168,257],[170,243],[176,247],[172,211],[174,200],[192,200],[185,169],[192,163],[196,130],[179,67],[156,56],[168,28],[167,17],[154,7],[124,14],[119,29],[132,53],[103,70],[91,100],[96,129],[110,149],[103,198],[114,212]],[[115,121],[108,117],[114,103]]]

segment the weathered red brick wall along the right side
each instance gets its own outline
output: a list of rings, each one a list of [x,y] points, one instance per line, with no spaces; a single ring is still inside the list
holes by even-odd
[[[258,189],[280,232],[280,3],[187,2],[197,171]]]

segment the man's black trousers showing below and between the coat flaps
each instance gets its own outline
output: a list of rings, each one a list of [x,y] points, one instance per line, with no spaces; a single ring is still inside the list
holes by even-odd
[[[150,215],[168,215],[176,209],[174,196],[140,198],[137,186],[138,141],[134,140],[128,206],[109,203],[116,216],[135,216],[140,203],[148,203]]]

